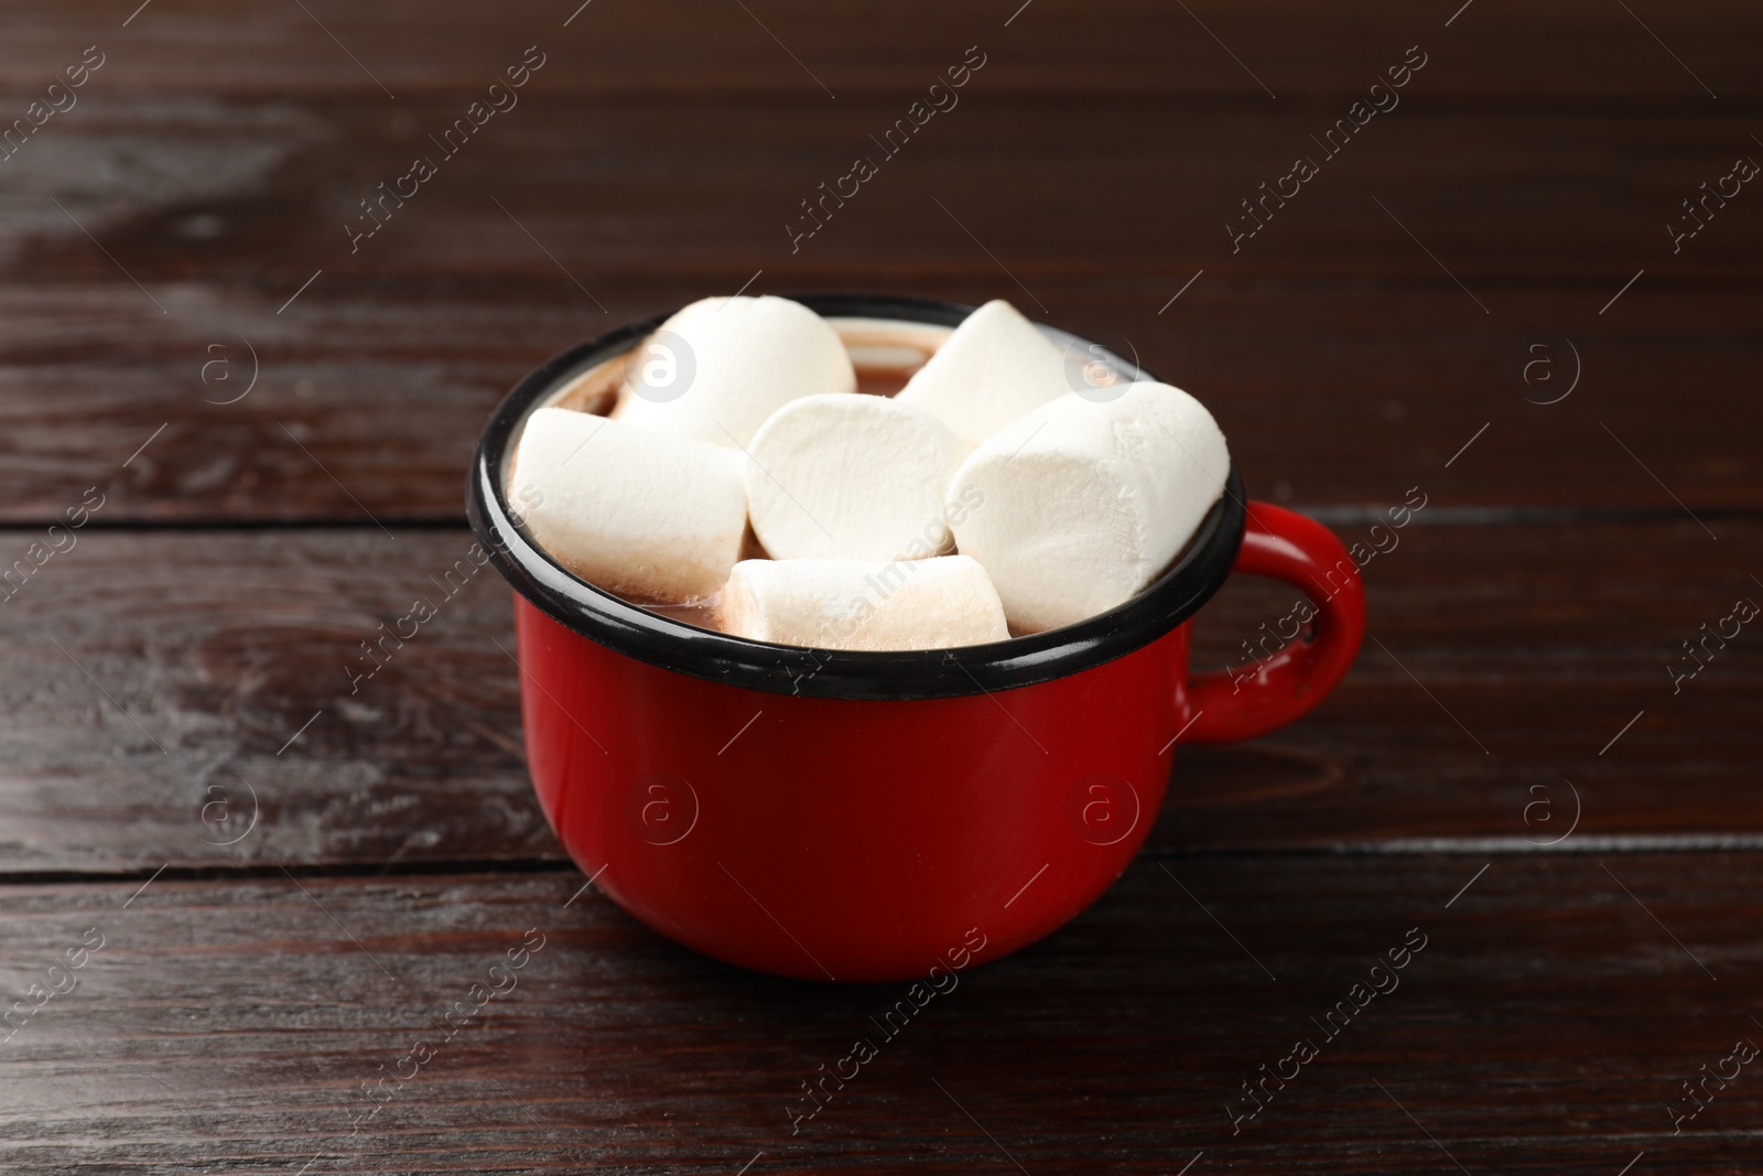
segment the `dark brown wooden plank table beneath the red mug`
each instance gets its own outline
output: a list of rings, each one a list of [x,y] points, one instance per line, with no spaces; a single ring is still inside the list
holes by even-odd
[[[1763,601],[1763,192],[1682,206],[1763,159],[1754,5],[136,4],[0,37],[0,1167],[1763,1164],[1763,633],[1684,647]],[[897,986],[735,971],[582,890],[501,582],[344,670],[469,545],[522,372],[740,287],[1005,296],[1201,395],[1253,495],[1349,541],[1426,497],[1340,691],[1183,751],[1102,901],[797,1134]],[[1287,605],[1232,585],[1199,663]],[[518,987],[372,1086],[527,929]]]

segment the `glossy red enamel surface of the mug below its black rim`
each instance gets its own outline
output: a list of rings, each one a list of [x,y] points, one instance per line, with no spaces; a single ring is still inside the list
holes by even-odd
[[[1294,578],[1245,552],[1245,569]],[[922,977],[964,942],[984,936],[973,959],[993,959],[1077,915],[1144,841],[1190,716],[1185,624],[1037,686],[867,702],[663,670],[518,596],[515,619],[527,762],[577,864],[661,934],[802,979]],[[1350,663],[1358,629],[1333,633]],[[1287,684],[1269,681],[1225,682],[1206,709],[1227,721]]]

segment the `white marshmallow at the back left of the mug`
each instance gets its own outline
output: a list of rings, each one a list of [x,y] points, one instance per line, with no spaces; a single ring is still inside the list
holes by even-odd
[[[617,420],[744,446],[779,407],[857,391],[837,331],[788,298],[703,298],[636,346]]]

